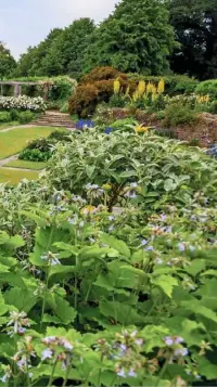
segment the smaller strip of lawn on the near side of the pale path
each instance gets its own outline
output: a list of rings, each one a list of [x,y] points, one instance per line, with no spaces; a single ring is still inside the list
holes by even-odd
[[[17,184],[22,179],[36,180],[38,178],[37,171],[23,171],[0,168],[0,183]]]

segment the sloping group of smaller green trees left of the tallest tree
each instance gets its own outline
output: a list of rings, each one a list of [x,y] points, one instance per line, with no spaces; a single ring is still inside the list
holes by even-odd
[[[17,75],[49,76],[68,74],[78,77],[81,73],[82,55],[94,29],[93,22],[80,18],[65,29],[54,29],[38,47],[23,54]]]

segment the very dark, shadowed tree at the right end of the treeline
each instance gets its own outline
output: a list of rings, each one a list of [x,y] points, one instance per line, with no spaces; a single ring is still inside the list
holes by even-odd
[[[171,68],[200,79],[217,77],[217,0],[169,0],[168,5],[180,42]]]

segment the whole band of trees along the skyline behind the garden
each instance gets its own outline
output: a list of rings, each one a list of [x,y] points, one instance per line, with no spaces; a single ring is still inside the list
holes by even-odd
[[[2,43],[0,50],[0,76],[7,77],[15,61]],[[79,78],[95,66],[217,77],[217,0],[122,0],[98,26],[85,17],[51,30],[13,74]]]

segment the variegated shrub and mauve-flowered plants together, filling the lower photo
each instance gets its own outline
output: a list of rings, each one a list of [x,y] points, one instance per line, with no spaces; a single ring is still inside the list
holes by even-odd
[[[152,132],[71,141],[0,186],[1,384],[214,385],[217,162]]]

